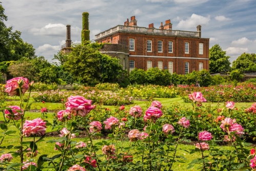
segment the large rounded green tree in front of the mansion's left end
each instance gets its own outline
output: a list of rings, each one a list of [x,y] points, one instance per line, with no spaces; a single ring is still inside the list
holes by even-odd
[[[75,45],[63,67],[78,83],[94,86],[99,82],[127,82],[118,60],[99,52],[103,44],[90,41]]]

